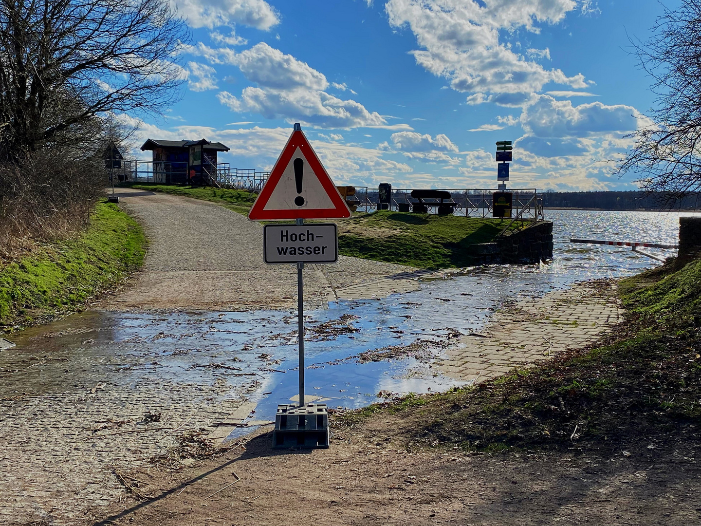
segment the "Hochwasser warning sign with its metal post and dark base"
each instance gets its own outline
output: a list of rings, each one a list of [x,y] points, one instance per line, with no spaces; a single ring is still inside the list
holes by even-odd
[[[294,224],[268,224],[263,229],[264,261],[297,265],[299,406],[278,405],[273,447],[329,445],[326,405],[305,404],[304,400],[302,271],[305,263],[335,263],[339,252],[338,235],[334,223],[305,225],[304,220],[344,217],[351,217],[351,210],[296,123],[248,214],[252,221],[295,221]]]

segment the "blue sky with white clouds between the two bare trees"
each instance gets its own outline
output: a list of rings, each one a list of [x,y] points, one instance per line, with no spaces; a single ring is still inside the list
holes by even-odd
[[[512,140],[509,187],[636,188],[609,160],[651,125],[629,37],[657,1],[174,1],[187,81],[139,140],[219,140],[269,170],[300,122],[336,184],[395,188],[495,188]]]

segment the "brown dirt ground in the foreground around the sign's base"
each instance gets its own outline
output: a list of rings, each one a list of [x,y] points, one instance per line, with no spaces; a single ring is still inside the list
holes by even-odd
[[[701,523],[697,444],[469,454],[412,447],[405,428],[336,427],[328,450],[273,450],[268,431],[189,467],[134,471],[135,491],[95,525]]]

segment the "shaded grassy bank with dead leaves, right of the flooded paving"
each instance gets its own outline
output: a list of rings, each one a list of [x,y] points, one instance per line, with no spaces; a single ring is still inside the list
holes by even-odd
[[[629,454],[637,443],[638,452],[650,454],[665,443],[699,440],[701,260],[669,262],[623,280],[620,290],[627,321],[593,349],[343,418],[358,423],[373,414],[400,414],[407,443],[482,452]]]

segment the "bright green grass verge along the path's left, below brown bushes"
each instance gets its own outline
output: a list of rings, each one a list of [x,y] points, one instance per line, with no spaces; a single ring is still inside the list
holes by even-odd
[[[116,205],[98,203],[86,231],[0,268],[0,333],[82,309],[137,269],[144,255],[137,222]]]

